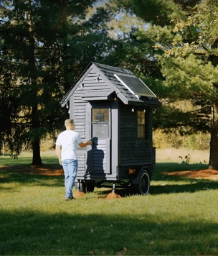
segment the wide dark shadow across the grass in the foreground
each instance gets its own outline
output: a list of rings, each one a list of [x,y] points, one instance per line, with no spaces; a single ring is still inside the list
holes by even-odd
[[[146,213],[1,211],[0,255],[218,254],[217,223],[202,219],[199,225],[194,216],[189,221],[156,218]]]

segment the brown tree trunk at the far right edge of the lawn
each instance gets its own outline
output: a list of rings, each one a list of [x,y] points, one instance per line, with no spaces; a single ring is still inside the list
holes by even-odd
[[[218,100],[212,106],[209,168],[218,170]]]

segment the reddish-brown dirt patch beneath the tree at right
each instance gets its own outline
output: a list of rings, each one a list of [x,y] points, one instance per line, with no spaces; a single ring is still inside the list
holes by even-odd
[[[179,170],[176,172],[164,172],[165,175],[176,175],[184,176],[187,178],[196,178],[196,179],[207,179],[207,180],[218,180],[218,171],[212,169],[205,170]]]

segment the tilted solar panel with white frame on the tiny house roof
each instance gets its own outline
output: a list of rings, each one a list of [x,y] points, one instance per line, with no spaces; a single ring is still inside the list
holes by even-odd
[[[123,76],[123,75],[116,75],[114,74],[115,78],[118,79],[121,83],[123,83],[123,86],[128,88],[131,93],[136,95],[138,98],[140,96],[146,96],[148,98],[156,98],[157,96],[153,93],[153,91],[146,86],[143,81],[141,81],[140,78],[136,78],[133,76]]]

